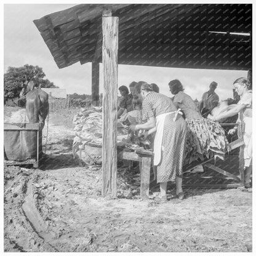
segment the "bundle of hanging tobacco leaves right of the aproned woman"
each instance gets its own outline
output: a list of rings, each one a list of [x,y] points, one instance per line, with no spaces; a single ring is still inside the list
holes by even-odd
[[[189,159],[189,163],[213,156],[215,159],[224,159],[225,153],[230,151],[230,145],[225,137],[225,130],[218,122],[201,118],[187,119],[187,124],[185,159]]]

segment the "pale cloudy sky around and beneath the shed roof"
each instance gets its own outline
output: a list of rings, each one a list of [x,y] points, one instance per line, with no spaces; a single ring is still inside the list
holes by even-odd
[[[4,4],[4,73],[8,66],[38,65],[46,78],[67,94],[91,94],[91,65],[79,62],[59,69],[33,20],[52,12],[68,9],[75,4]],[[154,68],[147,66],[118,66],[119,86],[128,86],[132,81],[158,84],[162,94],[170,95],[168,83],[180,79],[185,92],[193,99],[200,99],[212,81],[220,100],[233,97],[233,81],[247,76],[247,71],[192,70],[182,68]],[[103,81],[100,65],[100,92]]]

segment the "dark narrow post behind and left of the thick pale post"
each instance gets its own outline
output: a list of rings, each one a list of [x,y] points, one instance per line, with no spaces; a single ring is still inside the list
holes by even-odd
[[[92,105],[98,106],[99,95],[99,79],[100,79],[100,64],[92,62]]]

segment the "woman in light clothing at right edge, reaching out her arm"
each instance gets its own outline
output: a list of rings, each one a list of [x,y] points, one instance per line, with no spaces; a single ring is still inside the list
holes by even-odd
[[[252,90],[251,84],[246,78],[238,78],[234,81],[234,89],[238,92],[240,100],[236,107],[223,114],[214,116],[215,121],[223,118],[229,118],[239,114],[237,122],[244,122],[245,129],[242,131],[244,139],[244,187],[250,188],[250,175],[252,174]],[[233,135],[238,126],[229,130],[229,134]]]

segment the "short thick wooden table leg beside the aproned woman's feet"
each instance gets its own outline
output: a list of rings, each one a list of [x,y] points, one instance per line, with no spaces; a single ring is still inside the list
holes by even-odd
[[[140,196],[148,198],[150,194],[150,167],[151,157],[142,157],[142,172],[140,175]]]

